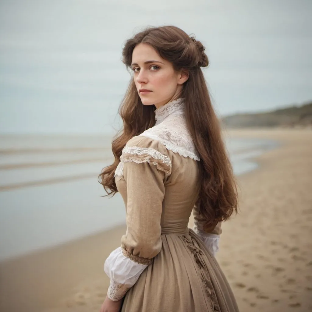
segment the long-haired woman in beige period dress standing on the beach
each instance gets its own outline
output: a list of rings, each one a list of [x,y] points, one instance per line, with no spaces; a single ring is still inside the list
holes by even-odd
[[[127,231],[105,261],[101,312],[238,311],[214,257],[237,191],[200,68],[208,66],[204,50],[174,26],[125,43],[133,78],[124,127],[112,144],[115,162],[100,176],[108,194],[123,197]]]

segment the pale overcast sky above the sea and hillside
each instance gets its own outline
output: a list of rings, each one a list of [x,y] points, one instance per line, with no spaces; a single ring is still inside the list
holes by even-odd
[[[206,46],[219,115],[312,100],[312,1],[1,0],[0,133],[114,133],[124,41],[175,25]]]

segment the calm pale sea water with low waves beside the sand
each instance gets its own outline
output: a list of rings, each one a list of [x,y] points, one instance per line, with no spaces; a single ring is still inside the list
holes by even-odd
[[[0,135],[0,261],[56,246],[125,223],[120,194],[98,182],[112,163],[112,136]],[[277,146],[227,139],[236,175]]]

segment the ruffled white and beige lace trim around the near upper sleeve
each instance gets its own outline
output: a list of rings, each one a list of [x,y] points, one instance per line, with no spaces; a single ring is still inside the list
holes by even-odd
[[[153,159],[151,159],[151,157]],[[127,162],[152,163],[157,167],[158,170],[163,171],[166,177],[171,174],[170,158],[167,155],[161,154],[156,149],[126,145],[122,150],[120,163],[115,170],[115,176],[118,175],[121,177],[123,175],[124,163]]]

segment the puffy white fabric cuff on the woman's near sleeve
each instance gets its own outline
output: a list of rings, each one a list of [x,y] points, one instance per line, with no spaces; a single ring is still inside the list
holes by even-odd
[[[104,271],[118,284],[133,286],[148,265],[132,261],[124,256],[121,247],[110,253],[104,263]]]

